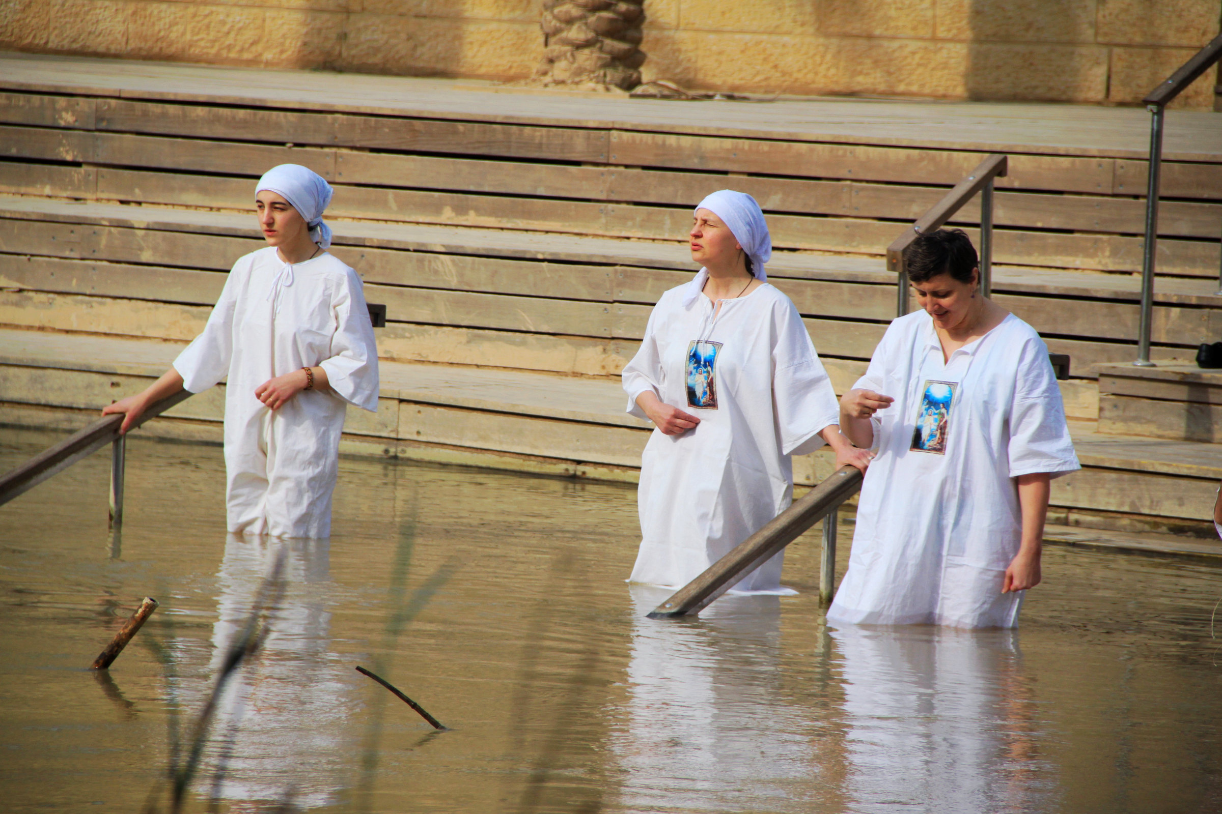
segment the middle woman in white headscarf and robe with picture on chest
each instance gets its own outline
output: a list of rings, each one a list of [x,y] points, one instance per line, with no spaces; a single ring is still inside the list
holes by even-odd
[[[654,422],[642,455],[640,552],[631,582],[679,587],[783,511],[791,455],[826,442],[836,466],[870,460],[840,432],[827,373],[788,297],[767,283],[759,204],[723,189],[695,209],[695,279],[662,294],[623,370],[628,412]],[[777,554],[736,586],[791,593]]]

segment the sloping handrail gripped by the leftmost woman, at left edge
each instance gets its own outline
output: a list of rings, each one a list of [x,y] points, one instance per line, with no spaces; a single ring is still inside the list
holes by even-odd
[[[132,422],[128,432],[181,404],[191,395],[189,391],[180,391],[160,402],[154,402],[139,419]],[[108,415],[0,476],[0,505],[110,444],[110,527],[117,528],[123,522],[123,470],[127,449],[125,443],[127,436],[119,434],[119,427],[122,423],[122,415]]]

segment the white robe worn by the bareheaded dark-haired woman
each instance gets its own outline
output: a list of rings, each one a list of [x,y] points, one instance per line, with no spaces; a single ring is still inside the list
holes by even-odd
[[[1025,592],[1001,588],[1022,542],[1015,478],[1079,469],[1044,340],[1009,315],[945,359],[916,311],[891,323],[854,388],[895,402],[873,419],[877,456],[829,621],[1014,627]]]

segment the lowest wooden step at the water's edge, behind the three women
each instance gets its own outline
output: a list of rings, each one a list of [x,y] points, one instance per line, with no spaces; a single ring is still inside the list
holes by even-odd
[[[181,343],[48,331],[0,331],[0,422],[79,428],[104,404],[164,372]],[[222,388],[188,399],[148,432],[220,439]],[[649,425],[624,412],[615,378],[382,362],[376,415],[349,410],[345,452],[634,481]],[[1123,532],[1209,537],[1216,447],[1100,434],[1073,422],[1083,471],[1053,481],[1050,521]],[[142,430],[142,432],[145,432]],[[796,482],[831,471],[825,453],[796,459]]]

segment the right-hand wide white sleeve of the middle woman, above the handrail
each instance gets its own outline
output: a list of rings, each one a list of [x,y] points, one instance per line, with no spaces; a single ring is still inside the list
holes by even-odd
[[[824,444],[820,431],[840,425],[840,402],[798,309],[783,298],[772,314],[772,404],[781,454],[805,455]]]

